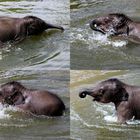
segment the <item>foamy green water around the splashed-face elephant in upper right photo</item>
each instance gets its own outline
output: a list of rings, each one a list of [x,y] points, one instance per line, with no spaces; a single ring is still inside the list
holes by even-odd
[[[140,43],[109,38],[89,23],[107,13],[124,13],[140,21],[139,0],[71,0],[71,69],[140,68]]]

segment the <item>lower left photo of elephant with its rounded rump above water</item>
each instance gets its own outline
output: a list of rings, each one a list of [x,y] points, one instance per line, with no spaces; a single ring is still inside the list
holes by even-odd
[[[18,73],[0,73],[1,85],[16,81],[26,88],[26,91],[20,90],[24,96],[27,93],[29,98],[25,98],[25,103],[31,102],[30,107],[34,104],[34,108],[48,104],[45,108],[48,111],[49,104],[53,102],[49,96],[41,98],[39,95],[44,91],[55,94],[62,100],[65,110],[61,116],[47,116],[38,112],[31,113],[30,107],[28,112],[19,110],[18,105],[2,105],[0,104],[0,139],[69,139],[70,136],[70,97],[69,97],[69,71],[18,71]],[[16,87],[16,86],[15,86]],[[14,87],[14,88],[15,88]],[[8,90],[11,86],[6,86]],[[3,88],[0,88],[2,92]],[[34,91],[35,92],[32,92]],[[37,90],[37,91],[36,91]],[[39,94],[36,92],[40,91]],[[30,92],[30,93],[29,93]],[[47,94],[45,92],[45,94]],[[6,94],[6,91],[5,91]],[[34,94],[34,96],[32,96]],[[36,97],[37,96],[37,97]],[[30,99],[31,98],[31,99]],[[37,98],[37,100],[34,100]],[[0,95],[1,99],[1,95]],[[57,100],[56,100],[57,101]],[[54,100],[54,104],[56,103]],[[8,102],[9,103],[9,102]],[[52,104],[52,103],[51,103]],[[21,105],[21,104],[20,104]],[[16,106],[16,107],[15,107]],[[57,105],[57,107],[59,104]],[[33,106],[32,106],[33,107]],[[41,107],[42,108],[42,107]],[[39,111],[39,110],[38,110]],[[45,111],[45,110],[44,110]],[[47,112],[46,112],[47,113]]]

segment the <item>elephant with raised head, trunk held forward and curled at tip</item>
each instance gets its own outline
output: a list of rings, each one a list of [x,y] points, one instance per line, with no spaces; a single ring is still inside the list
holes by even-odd
[[[121,123],[127,120],[140,119],[140,87],[121,82],[118,79],[108,79],[95,88],[79,93],[81,98],[92,96],[93,101],[115,104],[117,118]]]

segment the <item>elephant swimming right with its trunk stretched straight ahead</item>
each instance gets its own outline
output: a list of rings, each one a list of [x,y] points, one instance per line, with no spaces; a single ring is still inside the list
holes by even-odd
[[[23,18],[0,17],[0,42],[19,42],[27,36],[38,35],[47,29],[64,30],[61,26],[46,23],[35,16]]]

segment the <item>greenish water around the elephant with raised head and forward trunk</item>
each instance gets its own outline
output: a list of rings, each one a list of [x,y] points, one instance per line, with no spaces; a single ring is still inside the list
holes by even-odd
[[[99,82],[118,78],[131,85],[140,85],[139,70],[71,71],[71,138],[77,140],[139,140],[140,121],[130,120],[128,125],[117,123],[112,103],[93,102],[90,96],[79,97],[79,91],[92,88]]]

